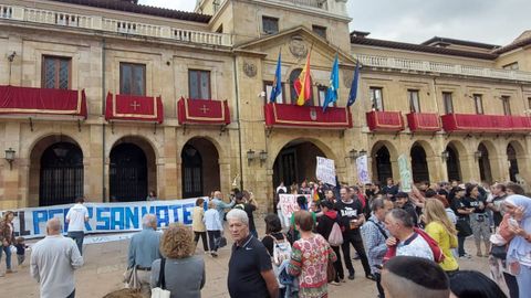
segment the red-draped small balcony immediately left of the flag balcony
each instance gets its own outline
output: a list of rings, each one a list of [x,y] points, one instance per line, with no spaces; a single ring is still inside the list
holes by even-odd
[[[227,100],[181,97],[177,102],[177,115],[180,125],[227,126],[230,124],[230,109]]]

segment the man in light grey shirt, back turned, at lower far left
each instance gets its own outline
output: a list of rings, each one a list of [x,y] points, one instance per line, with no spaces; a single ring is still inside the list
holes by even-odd
[[[46,223],[46,237],[31,253],[31,276],[40,284],[42,298],[75,297],[74,270],[83,266],[83,257],[72,238],[61,234],[61,222]]]

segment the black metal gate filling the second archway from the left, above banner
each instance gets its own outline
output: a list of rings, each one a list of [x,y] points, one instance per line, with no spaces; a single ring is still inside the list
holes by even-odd
[[[147,159],[138,146],[121,143],[113,148],[108,177],[112,202],[146,200]]]

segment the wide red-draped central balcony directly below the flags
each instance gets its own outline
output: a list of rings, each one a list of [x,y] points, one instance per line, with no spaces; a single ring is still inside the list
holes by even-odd
[[[351,110],[346,107],[295,106],[284,104],[266,104],[263,107],[266,126],[271,127],[300,127],[322,129],[352,128]]]

